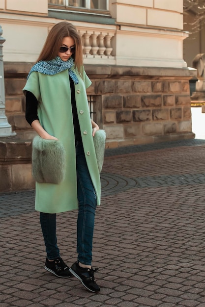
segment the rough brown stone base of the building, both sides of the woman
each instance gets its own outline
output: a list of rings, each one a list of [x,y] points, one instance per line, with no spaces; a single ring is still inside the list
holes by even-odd
[[[31,140],[22,88],[32,63],[4,63],[5,107],[17,132],[0,139],[0,192],[34,188]],[[107,134],[106,147],[194,138],[188,69],[85,65],[96,101],[94,120]]]

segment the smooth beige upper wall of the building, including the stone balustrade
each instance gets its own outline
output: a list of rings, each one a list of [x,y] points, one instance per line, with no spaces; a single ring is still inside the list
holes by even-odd
[[[83,37],[86,64],[186,67],[183,0],[110,0],[109,9],[116,24],[71,21]],[[49,29],[61,21],[47,16],[47,0],[0,1],[4,61],[36,60]]]

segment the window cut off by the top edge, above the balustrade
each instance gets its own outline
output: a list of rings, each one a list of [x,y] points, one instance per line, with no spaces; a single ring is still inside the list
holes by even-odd
[[[108,10],[109,0],[48,0],[48,4]]]

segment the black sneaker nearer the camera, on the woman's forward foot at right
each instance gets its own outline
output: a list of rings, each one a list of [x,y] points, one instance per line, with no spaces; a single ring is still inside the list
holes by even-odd
[[[98,268],[95,269],[88,269],[88,268],[82,268],[79,266],[78,261],[73,263],[73,265],[70,268],[70,272],[77,277],[91,292],[98,292],[100,291],[100,287],[97,285],[94,279],[94,272],[96,272]]]

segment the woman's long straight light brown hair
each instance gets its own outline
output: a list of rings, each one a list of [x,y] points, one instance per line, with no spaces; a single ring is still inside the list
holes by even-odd
[[[75,42],[75,53],[73,53],[72,56],[74,58],[75,68],[77,68],[81,74],[83,65],[83,47],[81,36],[76,27],[66,21],[60,22],[52,27],[36,62],[55,59],[59,53],[62,39],[65,36],[70,36]]]

